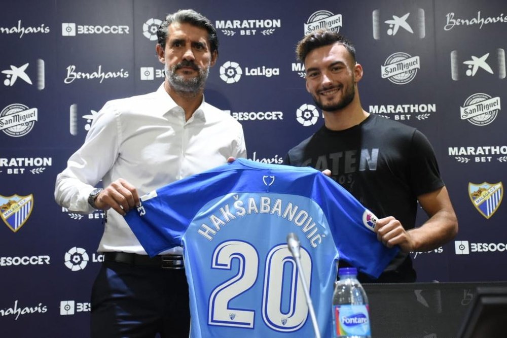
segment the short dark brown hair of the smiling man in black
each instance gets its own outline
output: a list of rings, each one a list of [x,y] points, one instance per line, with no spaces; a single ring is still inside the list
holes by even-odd
[[[335,43],[342,44],[352,56],[355,62],[355,47],[350,40],[343,35],[330,29],[317,29],[308,33],[296,46],[296,56],[301,62],[305,62],[305,58],[312,50],[333,45]]]

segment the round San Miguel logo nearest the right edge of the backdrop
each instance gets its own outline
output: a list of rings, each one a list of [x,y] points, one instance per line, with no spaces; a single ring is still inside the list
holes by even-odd
[[[500,109],[499,96],[491,97],[488,94],[476,93],[466,98],[460,107],[460,117],[474,125],[484,126],[495,120]]]

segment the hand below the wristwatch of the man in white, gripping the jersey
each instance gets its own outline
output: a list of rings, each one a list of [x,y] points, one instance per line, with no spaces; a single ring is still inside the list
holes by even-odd
[[[122,216],[125,216],[130,209],[137,205],[139,205],[137,189],[124,179],[118,179],[111,183],[95,199],[97,209],[113,208]]]

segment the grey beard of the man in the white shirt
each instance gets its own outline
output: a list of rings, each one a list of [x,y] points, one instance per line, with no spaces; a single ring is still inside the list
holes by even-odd
[[[198,73],[192,78],[186,78],[185,76],[176,74],[176,71],[182,67],[192,67],[192,69]],[[168,66],[166,64],[164,71],[167,81],[176,92],[186,96],[195,96],[204,89],[209,74],[209,67],[201,69],[194,61],[183,60],[173,66]]]

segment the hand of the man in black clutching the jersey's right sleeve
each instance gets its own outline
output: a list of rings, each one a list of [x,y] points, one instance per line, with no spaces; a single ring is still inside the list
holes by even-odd
[[[388,248],[399,245],[404,252],[410,252],[415,247],[410,232],[392,216],[377,220],[374,230],[377,233],[377,239]]]

